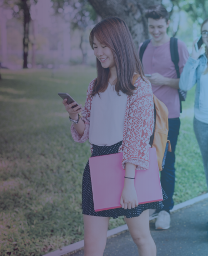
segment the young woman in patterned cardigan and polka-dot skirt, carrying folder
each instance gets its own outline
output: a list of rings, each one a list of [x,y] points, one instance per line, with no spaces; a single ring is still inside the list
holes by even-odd
[[[97,57],[98,76],[90,82],[82,105],[67,105],[73,139],[91,144],[92,156],[123,152],[125,169],[122,208],[94,211],[89,162],[83,174],[82,208],[84,255],[102,256],[110,217],[125,216],[140,256],[155,256],[149,230],[149,210],[163,208],[162,202],[138,205],[134,187],[135,170],[149,168],[149,139],[153,133],[154,105],[150,82],[144,77],[135,46],[125,22],[106,18],[90,33],[90,45]],[[138,74],[134,85],[133,76]],[[82,118],[78,113],[82,111]],[[131,178],[131,179],[129,179]],[[163,195],[166,198],[166,195]]]

